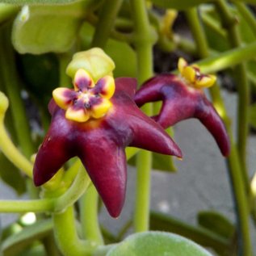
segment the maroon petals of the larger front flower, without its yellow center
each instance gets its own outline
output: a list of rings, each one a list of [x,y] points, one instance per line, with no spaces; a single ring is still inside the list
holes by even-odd
[[[49,104],[52,123],[47,137],[56,138],[57,145],[61,141],[61,146],[57,148],[54,145],[52,149],[52,145],[45,141],[37,154],[34,169],[35,183],[39,186],[46,183],[67,159],[80,157],[108,212],[114,217],[120,215],[124,204],[127,179],[125,147],[136,146],[182,157],[180,149],[164,129],[136,106],[133,100],[135,79],[117,78],[115,86],[110,111],[97,120],[85,123],[67,120],[65,110],[52,102]],[[59,122],[65,128],[61,132],[57,128]],[[64,156],[55,166],[51,165],[54,159],[48,153],[54,150]]]

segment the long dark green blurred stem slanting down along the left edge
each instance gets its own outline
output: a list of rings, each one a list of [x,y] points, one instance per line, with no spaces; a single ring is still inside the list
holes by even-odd
[[[24,155],[31,157],[31,154],[34,153],[34,148],[23,99],[21,99],[20,95],[19,78],[15,68],[15,53],[10,42],[10,26],[5,26],[2,29],[0,47],[0,65],[4,67],[1,69],[1,75],[10,100],[10,110],[14,117],[19,145]]]

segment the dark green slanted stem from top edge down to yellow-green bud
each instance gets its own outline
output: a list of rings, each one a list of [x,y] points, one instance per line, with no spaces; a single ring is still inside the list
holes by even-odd
[[[111,30],[115,24],[115,17],[120,10],[123,0],[105,0],[102,10],[99,14],[99,23],[97,23],[92,40],[93,47],[104,48],[107,44],[107,39],[111,34]]]

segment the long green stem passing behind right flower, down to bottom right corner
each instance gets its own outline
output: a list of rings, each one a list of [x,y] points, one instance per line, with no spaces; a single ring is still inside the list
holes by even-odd
[[[187,10],[187,17],[190,19],[190,25],[192,27],[193,36],[198,48],[204,49],[199,52],[201,58],[208,57],[208,43],[204,35],[204,29],[199,23],[199,18],[195,9]],[[198,36],[200,35],[200,36]],[[250,255],[250,229],[248,219],[248,199],[246,198],[246,190],[243,183],[243,177],[241,174],[241,166],[237,157],[237,147],[233,143],[233,132],[230,127],[229,117],[225,110],[225,104],[220,95],[219,86],[213,86],[210,88],[210,94],[217,111],[225,121],[226,128],[229,132],[229,138],[231,143],[231,153],[228,157],[228,167],[230,180],[233,187],[233,194],[235,204],[237,206],[237,219],[239,221],[241,230],[241,244],[242,244],[242,255]]]

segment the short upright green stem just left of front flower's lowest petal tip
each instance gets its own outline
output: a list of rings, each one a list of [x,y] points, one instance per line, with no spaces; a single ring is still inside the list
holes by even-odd
[[[86,193],[79,200],[80,220],[83,237],[103,245],[103,236],[99,227],[98,204],[99,196],[93,184],[88,187]]]

